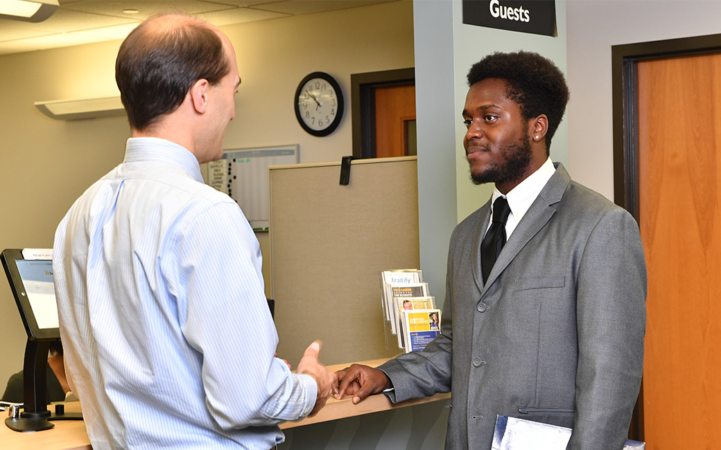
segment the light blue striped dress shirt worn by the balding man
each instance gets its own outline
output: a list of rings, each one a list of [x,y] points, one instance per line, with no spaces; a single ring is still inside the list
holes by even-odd
[[[255,234],[180,145],[129,139],[58,226],[53,272],[94,449],[266,450],[312,410],[314,379],[274,357]]]

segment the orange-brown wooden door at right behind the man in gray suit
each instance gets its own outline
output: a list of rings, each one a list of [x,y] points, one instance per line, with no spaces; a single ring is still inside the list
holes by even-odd
[[[721,55],[637,66],[647,450],[719,449]]]

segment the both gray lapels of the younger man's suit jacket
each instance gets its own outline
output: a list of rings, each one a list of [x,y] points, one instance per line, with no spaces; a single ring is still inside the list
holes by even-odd
[[[521,249],[528,244],[528,241],[531,240],[531,238],[533,238],[534,235],[536,235],[536,233],[538,233],[539,230],[548,223],[552,215],[554,215],[556,210],[552,205],[561,201],[563,193],[566,191],[566,188],[571,181],[568,172],[561,163],[554,163],[554,166],[556,166],[556,173],[551,176],[549,181],[546,183],[546,186],[541,189],[541,193],[538,197],[536,197],[533,204],[531,204],[531,207],[528,208],[526,214],[523,215],[521,222],[518,222],[516,230],[514,230],[513,234],[510,235],[508,242],[503,247],[503,251],[501,251],[500,255],[498,255],[498,259],[496,260],[491,273],[488,275],[485,285],[482,283],[480,275],[480,256],[477,257],[478,264],[477,268],[475,268],[477,270],[474,270],[474,277],[478,278],[477,283],[479,282],[479,286],[482,286],[481,292],[483,294],[485,294],[486,290],[493,284],[493,282],[495,282],[495,279],[500,276],[508,264],[513,261],[513,258],[516,258],[518,252],[520,252]],[[490,210],[490,201],[487,206]],[[481,217],[486,217],[483,222],[485,222],[487,227],[490,214],[486,213],[485,215],[481,215]],[[477,248],[480,248],[480,240],[482,240],[482,236],[485,235],[485,229],[482,228],[482,230],[484,230],[483,233],[476,234],[476,236],[480,235],[481,237],[474,238],[479,240]],[[480,255],[480,251],[477,253]]]

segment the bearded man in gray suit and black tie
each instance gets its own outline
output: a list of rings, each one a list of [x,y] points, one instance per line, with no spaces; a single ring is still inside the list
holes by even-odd
[[[496,415],[573,428],[568,449],[622,449],[643,366],[638,225],[550,160],[568,100],[553,63],[495,53],[468,83],[471,178],[495,190],[451,236],[443,334],[378,369],[338,372],[337,397],[384,392],[400,402],[452,391],[446,449],[490,449]],[[481,247],[503,199],[507,241],[494,264]]]

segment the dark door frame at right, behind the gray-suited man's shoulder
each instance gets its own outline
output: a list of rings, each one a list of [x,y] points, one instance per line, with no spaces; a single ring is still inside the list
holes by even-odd
[[[645,60],[721,53],[721,34],[611,46],[613,99],[614,202],[640,222],[638,63]],[[629,438],[644,441],[643,381]]]

